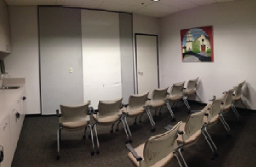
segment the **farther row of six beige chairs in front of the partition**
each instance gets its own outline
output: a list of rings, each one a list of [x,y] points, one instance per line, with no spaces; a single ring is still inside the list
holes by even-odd
[[[60,158],[59,147],[61,142],[61,130],[76,131],[85,128],[83,136],[83,138],[85,138],[87,127],[89,127],[89,138],[91,138],[92,140],[91,155],[94,155],[95,149],[92,130],[94,130],[97,140],[98,148],[96,150],[96,154],[99,154],[99,142],[96,128],[97,125],[112,125],[112,133],[114,125],[117,124],[116,131],[118,131],[118,125],[122,122],[125,129],[125,134],[127,136],[126,143],[131,143],[131,131],[126,120],[127,117],[134,118],[134,124],[137,124],[137,118],[139,117],[139,122],[141,122],[141,117],[144,115],[144,113],[146,113],[152,125],[151,132],[153,132],[156,130],[156,128],[150,111],[152,109],[155,110],[156,115],[157,109],[159,109],[159,114],[161,114],[161,108],[166,105],[172,116],[171,121],[175,121],[172,107],[174,105],[177,106],[177,102],[183,99],[185,105],[188,108],[188,112],[190,112],[190,106],[187,102],[187,99],[192,95],[196,95],[198,97],[197,81],[198,78],[194,80],[189,80],[186,88],[184,88],[185,81],[173,84],[170,93],[168,93],[169,87],[166,87],[164,89],[155,89],[152,92],[151,99],[148,98],[149,91],[144,94],[131,95],[129,97],[128,105],[122,104],[122,98],[115,100],[99,101],[98,111],[95,111],[92,107],[89,107],[89,105],[91,104],[90,101],[87,101],[82,105],[60,105],[61,113],[59,112],[59,109],[56,110],[57,117],[59,117],[59,128],[57,132],[57,159]],[[173,103],[172,107],[170,106],[171,102]],[[93,124],[92,126],[90,125],[90,115],[92,115],[95,121],[95,124]]]

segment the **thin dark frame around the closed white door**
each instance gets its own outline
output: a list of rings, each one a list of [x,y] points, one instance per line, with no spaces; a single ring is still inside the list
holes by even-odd
[[[136,76],[136,93],[138,94],[138,71],[137,71],[137,36],[154,36],[157,37],[157,68],[158,68],[158,88],[159,88],[159,60],[158,60],[158,35],[147,33],[134,33],[134,46],[135,46],[135,76]]]

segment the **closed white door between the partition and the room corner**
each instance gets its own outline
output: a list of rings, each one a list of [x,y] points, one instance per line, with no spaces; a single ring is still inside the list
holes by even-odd
[[[145,93],[158,88],[158,36],[138,35],[136,40],[137,93]]]

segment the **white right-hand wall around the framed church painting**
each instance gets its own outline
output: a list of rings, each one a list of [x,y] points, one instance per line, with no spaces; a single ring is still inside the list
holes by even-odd
[[[256,109],[256,1],[216,3],[178,12],[160,20],[160,85],[200,78],[199,96],[213,95],[243,80],[245,102]],[[213,25],[214,62],[182,62],[180,30]],[[248,92],[249,90],[249,92]]]

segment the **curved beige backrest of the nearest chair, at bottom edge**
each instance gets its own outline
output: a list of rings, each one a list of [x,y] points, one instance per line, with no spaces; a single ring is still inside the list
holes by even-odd
[[[168,132],[147,140],[143,150],[144,160],[140,161],[140,167],[153,166],[177,148],[177,131],[181,124],[180,121]]]

